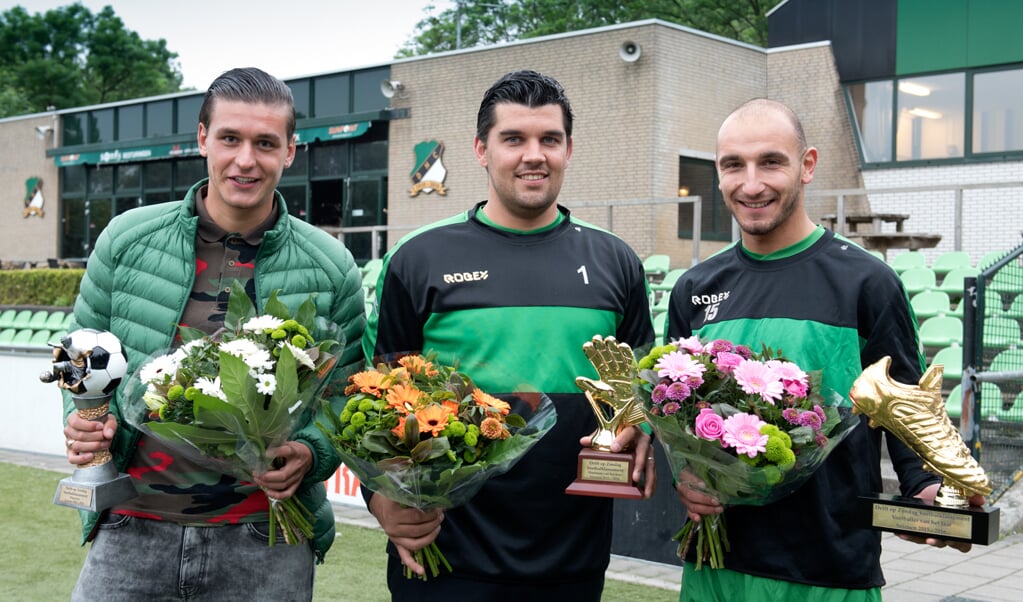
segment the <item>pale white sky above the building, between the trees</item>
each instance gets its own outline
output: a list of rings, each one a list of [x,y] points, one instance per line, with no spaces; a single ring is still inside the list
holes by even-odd
[[[415,24],[453,0],[81,0],[103,6],[142,39],[167,40],[178,53],[183,85],[205,90],[235,67],[258,67],[281,79],[390,62]],[[71,0],[3,0],[30,13]],[[435,8],[430,12],[430,6]]]

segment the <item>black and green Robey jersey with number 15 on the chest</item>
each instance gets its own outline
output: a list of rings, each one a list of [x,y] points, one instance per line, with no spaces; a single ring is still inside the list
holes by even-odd
[[[767,344],[803,370],[821,370],[825,386],[846,402],[862,369],[884,355],[892,358],[896,381],[917,383],[924,369],[916,316],[898,275],[820,227],[767,257],[737,244],[688,269],[671,292],[667,335],[693,334],[754,350]],[[902,494],[937,480],[898,439],[885,439]],[[794,493],[767,506],[727,508],[725,567],[828,588],[882,586],[881,534],[853,521],[856,498],[882,490],[881,443],[882,430],[868,427],[864,418]]]

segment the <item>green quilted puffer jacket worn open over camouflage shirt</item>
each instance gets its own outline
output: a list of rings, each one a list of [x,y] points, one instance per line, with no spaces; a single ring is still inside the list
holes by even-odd
[[[128,355],[129,375],[153,353],[169,349],[177,332],[195,277],[195,195],[206,183],[203,180],[192,186],[184,201],[142,207],[114,218],[89,256],[72,330],[92,328],[114,333]],[[344,246],[323,230],[288,216],[279,192],[276,200],[280,217],[264,236],[255,261],[257,309],[274,290],[280,290],[278,298],[293,311],[316,293],[318,315],[338,324],[347,341],[335,371],[335,376],[341,378],[362,361],[362,276]],[[124,471],[141,436],[122,418],[123,388],[124,383],[110,402],[110,412],[119,423],[110,451],[120,471]],[[64,417],[74,410],[71,395],[65,392]],[[341,459],[316,426],[316,420],[311,420],[293,439],[308,445],[313,454],[313,467],[297,494],[315,515],[311,544],[321,562],[335,539],[333,512],[323,481],[333,474]],[[83,545],[92,538],[98,519],[98,513],[82,512]]]

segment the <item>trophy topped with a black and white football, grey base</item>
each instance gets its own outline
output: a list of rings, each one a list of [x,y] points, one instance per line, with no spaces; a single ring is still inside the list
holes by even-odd
[[[53,364],[39,375],[44,383],[56,382],[66,389],[83,418],[103,422],[114,391],[128,371],[121,341],[112,333],[81,329],[60,339],[53,347]],[[78,466],[57,485],[53,503],[79,510],[99,512],[138,493],[131,476],[118,473],[108,449],[94,454],[91,462]]]

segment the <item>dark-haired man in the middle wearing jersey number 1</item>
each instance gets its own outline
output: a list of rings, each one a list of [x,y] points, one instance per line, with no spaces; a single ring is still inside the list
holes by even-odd
[[[499,79],[480,107],[475,148],[487,200],[388,253],[363,348],[370,359],[436,351],[485,391],[542,391],[558,424],[462,507],[424,513],[372,494],[369,509],[391,540],[388,585],[402,601],[596,601],[612,502],[565,493],[580,439],[596,426],[575,378],[596,376],[582,351],[594,335],[653,341],[642,264],[557,204],[572,155],[572,111],[557,81],[528,71]],[[639,481],[650,441],[633,427],[619,442],[632,438]],[[453,571],[405,578],[402,562],[421,572],[409,551],[435,539]]]

